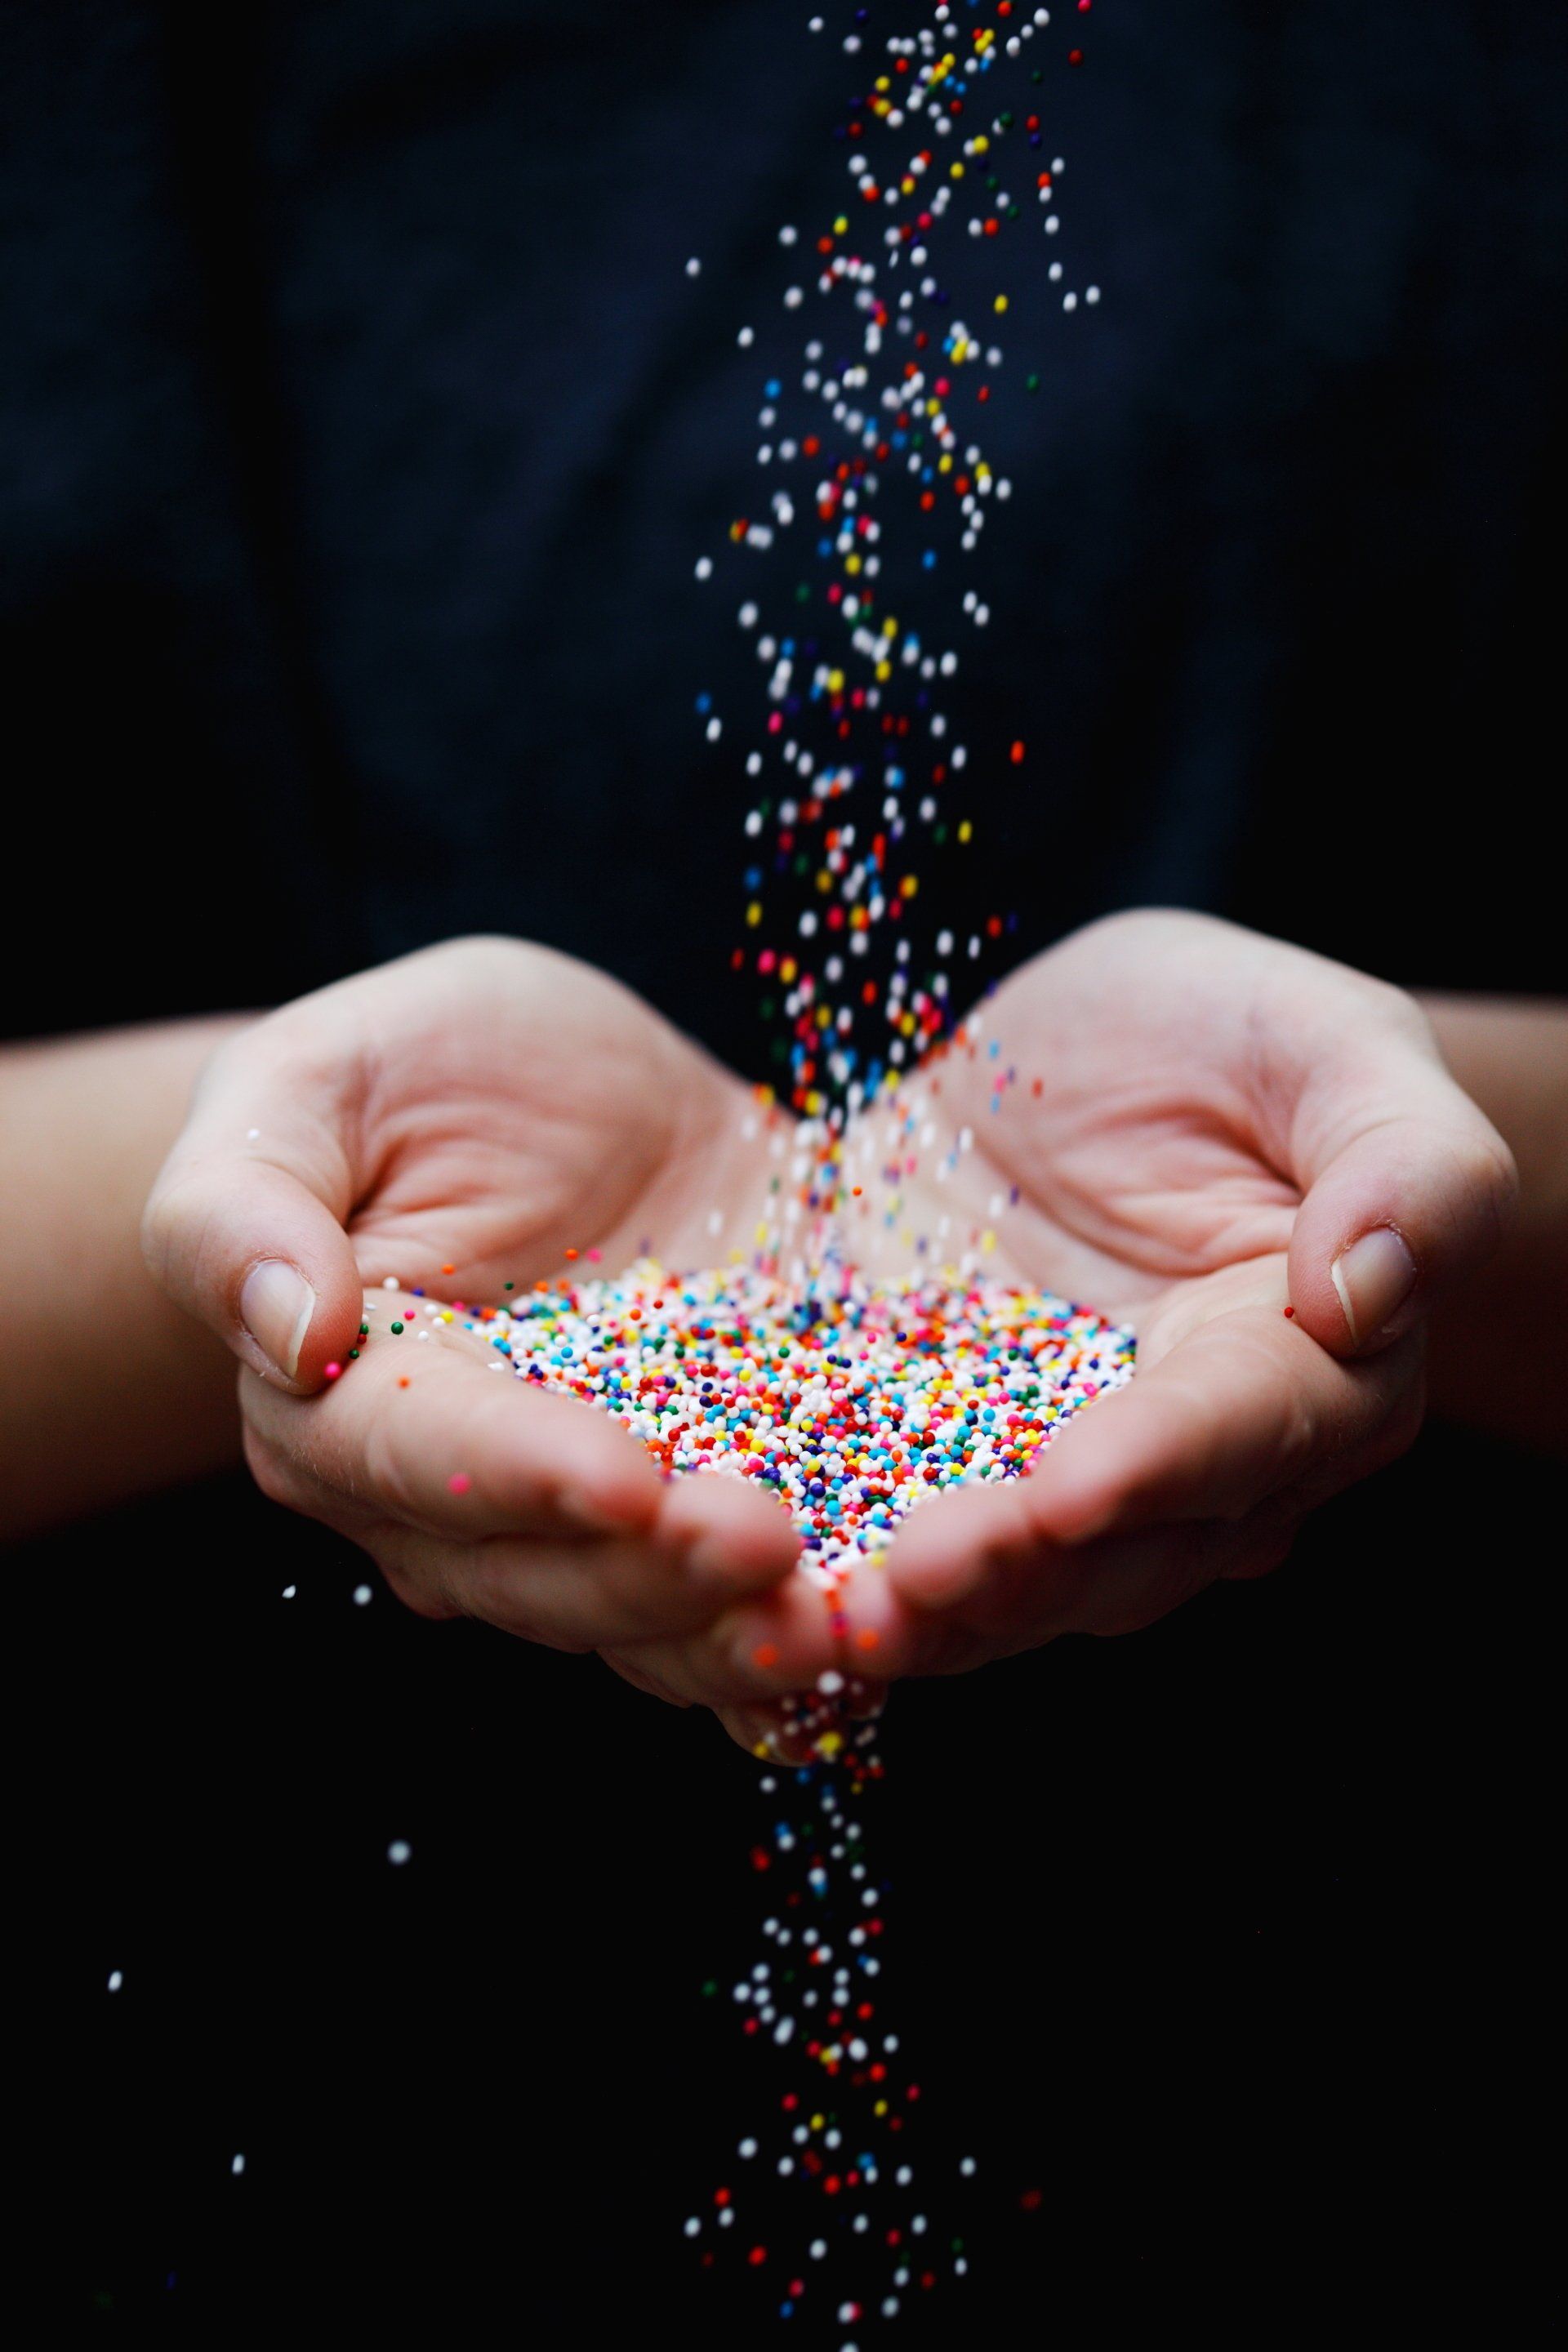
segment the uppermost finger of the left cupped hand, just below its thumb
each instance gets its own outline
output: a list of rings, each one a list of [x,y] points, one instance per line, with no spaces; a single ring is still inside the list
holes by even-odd
[[[374,1338],[322,1395],[247,1378],[242,1404],[256,1439],[322,1498],[442,1541],[646,1536],[665,1489],[644,1446],[609,1414],[491,1362]]]

